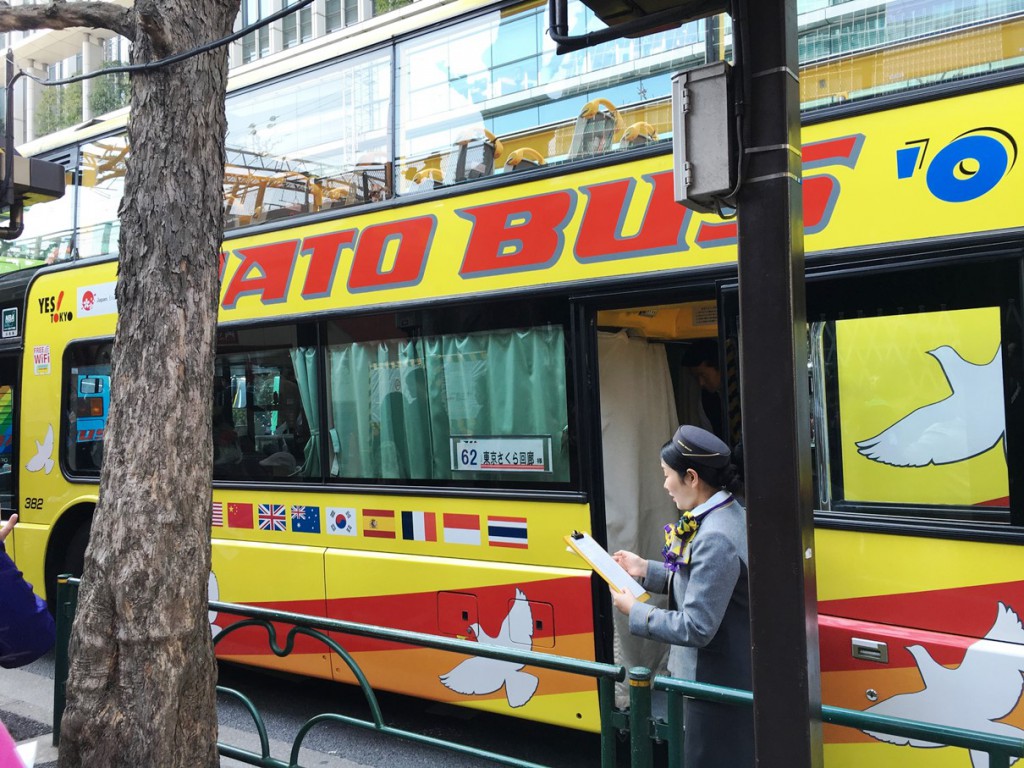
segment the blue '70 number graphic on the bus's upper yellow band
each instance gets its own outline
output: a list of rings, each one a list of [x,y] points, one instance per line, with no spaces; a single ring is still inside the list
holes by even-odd
[[[994,189],[1017,163],[1017,141],[1001,128],[979,127],[935,150],[932,138],[896,151],[896,177],[924,173],[928,190],[944,203],[967,203]]]

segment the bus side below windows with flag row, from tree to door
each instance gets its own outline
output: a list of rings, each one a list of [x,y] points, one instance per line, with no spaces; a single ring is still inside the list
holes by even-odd
[[[593,659],[592,574],[564,542],[588,517],[583,504],[215,489],[210,597]],[[214,635],[236,621],[211,613]],[[276,627],[279,647],[288,629]],[[279,658],[266,637],[237,630],[218,656],[355,682],[322,642],[300,636]],[[460,670],[467,656],[335,639],[378,689],[598,726],[592,678],[507,663],[496,672],[483,659]]]

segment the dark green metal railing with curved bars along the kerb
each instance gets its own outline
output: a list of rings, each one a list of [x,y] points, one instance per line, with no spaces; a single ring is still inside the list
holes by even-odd
[[[77,579],[60,577],[57,583],[57,641],[54,662],[53,685],[53,743],[57,744],[60,735],[60,716],[65,708],[65,690],[68,679],[68,641],[71,637],[72,620],[78,605]],[[435,635],[422,635],[404,630],[393,630],[386,627],[344,622],[340,620],[319,618],[316,616],[290,613],[287,611],[267,610],[234,603],[210,602],[210,609],[222,613],[245,616],[222,630],[214,639],[216,645],[224,637],[243,629],[258,627],[267,633],[270,649],[278,656],[286,656],[295,646],[295,638],[299,635],[314,638],[337,653],[355,676],[359,688],[366,697],[372,718],[362,720],[345,715],[325,713],[307,720],[295,740],[288,762],[270,757],[269,738],[263,719],[252,701],[243,693],[231,688],[217,686],[218,693],[223,693],[239,700],[249,712],[256,726],[260,741],[259,754],[249,752],[230,744],[217,743],[217,750],[223,757],[247,763],[249,765],[265,766],[266,768],[298,768],[299,751],[306,735],[323,723],[340,723],[374,730],[408,741],[435,746],[462,755],[469,755],[488,760],[500,765],[518,766],[520,768],[544,768],[541,764],[519,760],[507,755],[500,755],[479,750],[455,741],[425,736],[413,731],[402,730],[387,725],[381,714],[377,696],[358,665],[341,645],[321,632],[339,632],[347,635],[371,637],[378,640],[388,640],[407,645],[417,645],[426,648],[447,650],[466,655],[497,658],[503,662],[517,662],[531,667],[541,667],[558,672],[584,675],[594,678],[597,682],[598,703],[600,708],[601,730],[601,768],[615,766],[616,741],[618,734],[628,734],[630,740],[631,768],[652,768],[653,743],[665,741],[668,746],[669,768],[683,768],[683,699],[697,698],[735,707],[752,707],[754,696],[750,691],[724,688],[705,683],[679,680],[677,678],[653,676],[650,670],[636,667],[629,671],[630,707],[623,711],[614,707],[614,684],[627,678],[626,669],[618,665],[583,662],[565,656],[549,655],[536,651],[511,650],[496,645],[456,640]],[[278,642],[278,632],[273,623],[291,625],[285,645]],[[667,720],[660,720],[651,715],[651,697],[653,691],[667,695]],[[997,736],[980,731],[953,728],[932,723],[922,723],[902,718],[847,710],[840,707],[824,706],[821,708],[821,720],[825,723],[855,728],[872,733],[887,733],[921,739],[936,744],[958,746],[988,755],[989,768],[1009,768],[1010,761],[1024,758],[1024,738]]]

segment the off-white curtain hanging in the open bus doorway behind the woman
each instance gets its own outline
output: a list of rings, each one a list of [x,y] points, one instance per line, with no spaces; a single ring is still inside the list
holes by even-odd
[[[660,467],[662,445],[678,426],[665,346],[626,332],[599,333],[597,351],[608,551],[658,559],[664,526],[678,515]],[[615,663],[664,674],[668,646],[633,637],[626,616],[614,614]]]

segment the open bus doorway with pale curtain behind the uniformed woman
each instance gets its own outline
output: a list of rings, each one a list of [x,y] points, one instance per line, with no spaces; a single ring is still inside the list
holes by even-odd
[[[679,514],[660,469],[662,445],[676,427],[696,424],[732,444],[720,351],[715,300],[597,312],[609,552],[660,556],[664,526]],[[668,646],[632,636],[617,612],[613,650],[615,664],[666,672]]]

